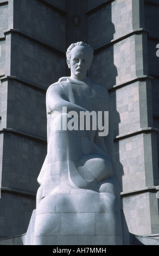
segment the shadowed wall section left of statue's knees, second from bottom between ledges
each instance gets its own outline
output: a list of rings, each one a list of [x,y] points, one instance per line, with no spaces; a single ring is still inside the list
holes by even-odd
[[[36,193],[37,176],[42,167],[43,156],[46,155],[44,145],[41,142],[35,143],[31,139],[8,133],[4,134],[3,145],[3,168],[6,172],[2,173],[2,186]],[[39,148],[40,154],[35,154],[35,146]]]

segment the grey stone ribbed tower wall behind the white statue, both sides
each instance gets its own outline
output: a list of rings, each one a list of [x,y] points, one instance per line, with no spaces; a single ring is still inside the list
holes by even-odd
[[[150,243],[152,239],[144,235],[159,233],[155,190],[159,184],[158,0],[3,2],[0,1],[2,187],[35,194],[36,177],[46,150],[45,91],[67,75],[66,48],[72,42],[85,41],[94,48],[88,75],[104,83],[110,93],[116,176],[123,193],[121,206],[126,224],[130,232],[143,235],[140,241]],[[14,132],[9,133],[9,128]],[[13,198],[15,203],[10,204]],[[22,215],[23,224],[18,224],[18,230],[13,220],[24,211],[23,205],[28,205],[31,216],[34,203],[27,193],[19,196],[2,190],[0,206],[5,211],[1,212],[0,236],[26,232],[30,217]],[[77,242],[78,237],[73,239]],[[67,237],[64,240],[67,244]]]

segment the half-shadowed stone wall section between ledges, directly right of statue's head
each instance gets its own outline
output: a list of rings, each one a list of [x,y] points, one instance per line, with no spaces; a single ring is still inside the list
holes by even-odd
[[[135,40],[135,35],[132,35],[97,53],[89,75],[94,80],[105,83],[107,88],[136,77]],[[98,66],[95,63],[99,63]]]

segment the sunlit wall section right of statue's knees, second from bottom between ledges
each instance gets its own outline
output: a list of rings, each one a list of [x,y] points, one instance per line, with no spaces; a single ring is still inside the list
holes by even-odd
[[[155,154],[156,148],[152,149],[152,145],[155,144],[154,133],[140,134],[116,141],[115,161],[120,174],[120,188],[123,192],[157,186],[157,154]]]

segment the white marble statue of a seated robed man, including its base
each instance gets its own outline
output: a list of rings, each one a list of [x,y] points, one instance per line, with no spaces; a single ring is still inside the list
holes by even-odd
[[[66,56],[71,76],[60,78],[46,94],[48,150],[38,177],[36,210],[23,243],[122,245],[110,149],[102,133],[99,136],[96,120],[97,129],[91,119],[90,129],[79,125],[84,122],[80,113],[100,112],[104,118],[109,94],[105,86],[87,77],[92,47],[77,42]]]

